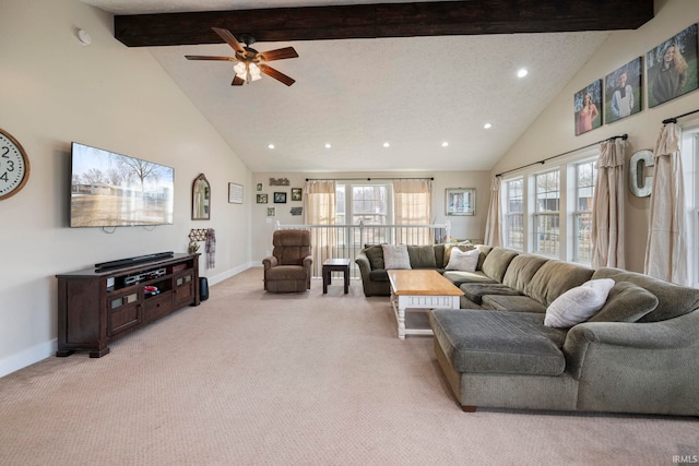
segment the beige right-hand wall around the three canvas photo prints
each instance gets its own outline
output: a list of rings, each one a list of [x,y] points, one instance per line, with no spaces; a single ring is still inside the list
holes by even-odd
[[[655,17],[637,31],[612,34],[602,48],[557,95],[538,119],[493,168],[493,174],[518,168],[532,162],[582,147],[619,134],[628,134],[627,157],[642,148],[653,150],[662,121],[699,109],[699,91],[647,108],[626,119],[574,135],[573,95],[594,80],[604,76],[632,59],[644,56],[662,41],[699,21],[697,0],[656,0]],[[555,57],[552,57],[555,60]],[[536,70],[532,70],[536,72]],[[636,198],[626,190],[626,266],[643,271],[648,232],[649,198]]]

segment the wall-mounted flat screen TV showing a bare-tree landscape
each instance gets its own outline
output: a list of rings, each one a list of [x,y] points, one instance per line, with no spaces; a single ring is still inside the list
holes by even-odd
[[[71,227],[171,225],[175,169],[76,142],[71,146]]]

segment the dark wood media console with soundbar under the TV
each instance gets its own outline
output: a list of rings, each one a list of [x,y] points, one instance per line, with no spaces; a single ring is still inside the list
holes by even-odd
[[[199,306],[199,255],[56,275],[56,356],[85,350],[99,358],[109,353],[110,342],[185,306]]]

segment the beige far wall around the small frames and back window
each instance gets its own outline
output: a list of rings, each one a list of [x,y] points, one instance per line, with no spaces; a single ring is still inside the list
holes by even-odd
[[[266,193],[269,204],[252,205],[252,229],[256,235],[252,237],[252,259],[256,262],[261,261],[271,249],[272,232],[274,231],[275,222],[282,225],[298,225],[303,222],[303,217],[293,216],[291,207],[303,206],[303,202],[292,202],[292,188],[304,188],[306,178],[416,178],[433,177],[433,215],[436,224],[443,224],[449,220],[451,223],[451,236],[459,239],[483,239],[485,230],[485,220],[487,218],[488,202],[490,200],[490,179],[489,174],[485,171],[435,171],[435,172],[353,172],[353,174],[333,174],[333,172],[312,172],[312,174],[291,174],[291,172],[271,172],[252,174],[252,189],[257,183],[262,183],[262,193]],[[270,186],[270,178],[287,178],[288,187]],[[476,189],[476,215],[475,216],[450,216],[445,213],[445,190],[447,188],[475,188]],[[286,204],[274,204],[272,194],[277,192],[286,192]],[[252,200],[254,202],[254,199]],[[276,207],[276,217],[270,218],[268,222],[266,207]]]

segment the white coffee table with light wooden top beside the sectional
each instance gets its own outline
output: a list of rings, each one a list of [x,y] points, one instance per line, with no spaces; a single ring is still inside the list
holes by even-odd
[[[459,309],[463,291],[437,271],[388,271],[391,283],[391,306],[398,321],[398,337],[431,335],[430,328],[406,328],[406,309]]]

